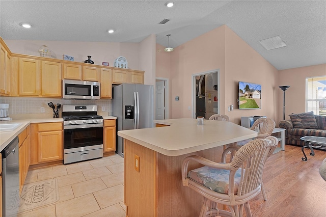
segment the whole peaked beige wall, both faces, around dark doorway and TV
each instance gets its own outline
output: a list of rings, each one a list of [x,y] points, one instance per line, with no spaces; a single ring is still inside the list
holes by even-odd
[[[160,60],[156,64],[162,65]],[[171,52],[171,118],[191,118],[192,75],[220,69],[220,113],[240,124],[240,117],[264,115],[277,117],[278,70],[262,58],[253,48],[223,25],[204,35],[176,47]],[[158,73],[159,70],[157,70]],[[260,110],[238,110],[238,82],[251,82],[262,86]],[[180,101],[175,101],[175,96]],[[234,105],[228,112],[227,107]]]

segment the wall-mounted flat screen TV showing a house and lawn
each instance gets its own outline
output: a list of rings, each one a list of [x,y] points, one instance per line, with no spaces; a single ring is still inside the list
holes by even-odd
[[[239,82],[239,109],[261,108],[261,85]]]

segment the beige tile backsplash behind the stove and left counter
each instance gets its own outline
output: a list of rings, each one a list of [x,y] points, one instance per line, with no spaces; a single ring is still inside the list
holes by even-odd
[[[53,104],[77,104],[77,105],[97,105],[97,114],[101,116],[112,115],[112,100],[111,99],[96,99],[96,100],[78,100],[78,99],[60,99],[60,98],[39,98],[39,97],[1,97],[0,103],[8,103],[9,110],[8,116],[11,118],[51,118],[52,108],[47,103],[53,102]],[[45,113],[41,113],[41,107],[44,107]],[[104,107],[104,112],[102,108]],[[60,109],[60,117],[61,117]],[[15,119],[15,118],[14,118]]]

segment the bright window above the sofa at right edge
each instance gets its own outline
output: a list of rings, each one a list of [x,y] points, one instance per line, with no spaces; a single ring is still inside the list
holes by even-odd
[[[326,76],[306,78],[306,112],[326,116]]]

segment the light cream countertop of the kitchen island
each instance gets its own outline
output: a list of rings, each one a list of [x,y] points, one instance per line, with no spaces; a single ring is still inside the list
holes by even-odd
[[[145,129],[120,130],[118,135],[167,156],[179,156],[241,140],[257,137],[257,132],[228,121],[182,118],[157,120],[154,123],[169,125]]]

